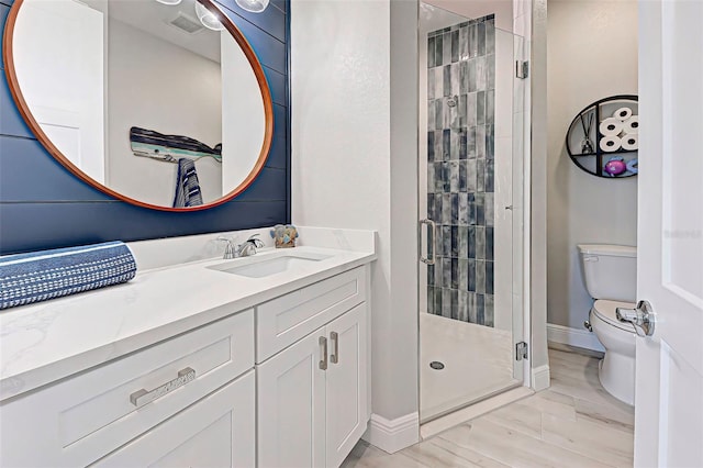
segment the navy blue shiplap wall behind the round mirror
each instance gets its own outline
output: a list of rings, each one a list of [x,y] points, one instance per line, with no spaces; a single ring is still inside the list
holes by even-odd
[[[190,213],[146,210],[115,200],[75,178],[44,151],[14,105],[3,69],[0,254],[263,227],[290,221],[289,0],[272,0],[259,14],[239,9],[234,0],[215,1],[252,44],[271,89],[274,142],[256,181],[227,203]],[[0,0],[3,31],[12,3],[13,0]]]

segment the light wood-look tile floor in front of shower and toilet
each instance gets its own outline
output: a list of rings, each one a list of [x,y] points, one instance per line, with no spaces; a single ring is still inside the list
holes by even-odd
[[[359,442],[342,467],[632,467],[634,409],[598,359],[549,349],[551,387],[389,455]]]

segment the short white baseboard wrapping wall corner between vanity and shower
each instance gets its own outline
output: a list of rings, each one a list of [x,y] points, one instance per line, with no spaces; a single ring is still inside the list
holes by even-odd
[[[362,439],[381,450],[394,454],[420,442],[420,414],[411,413],[394,420],[371,414]]]

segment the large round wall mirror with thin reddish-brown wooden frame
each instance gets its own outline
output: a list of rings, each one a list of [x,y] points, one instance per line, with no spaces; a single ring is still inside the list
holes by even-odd
[[[37,140],[126,202],[202,210],[266,163],[264,70],[211,0],[15,0],[3,58]]]

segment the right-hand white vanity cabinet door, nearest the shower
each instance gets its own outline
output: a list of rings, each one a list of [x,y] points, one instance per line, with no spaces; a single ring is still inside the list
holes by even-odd
[[[366,431],[366,303],[361,303],[325,327],[330,339],[330,365],[326,371],[327,467],[342,465]]]

